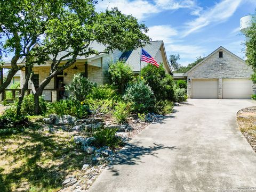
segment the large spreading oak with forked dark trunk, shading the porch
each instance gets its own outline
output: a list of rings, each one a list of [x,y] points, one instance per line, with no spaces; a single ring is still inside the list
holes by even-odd
[[[50,62],[51,65],[49,76],[37,89],[27,76],[34,94],[35,114],[39,112],[39,96],[53,77],[73,65],[77,56],[100,54],[91,48],[93,42],[105,45],[102,53],[109,53],[115,49],[128,51],[149,41],[145,24],[116,8],[97,13],[96,3],[94,0],[13,0],[0,3],[0,35],[7,39],[2,43],[1,51],[15,53],[10,77],[20,69],[17,61],[22,56],[26,57],[26,65],[31,67],[34,63]],[[9,34],[9,31],[12,32]],[[40,46],[32,48],[36,43]]]

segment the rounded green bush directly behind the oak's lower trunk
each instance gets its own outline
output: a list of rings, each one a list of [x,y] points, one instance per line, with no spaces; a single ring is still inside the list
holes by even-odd
[[[45,114],[47,111],[47,102],[44,100],[43,96],[39,96],[39,114]],[[35,103],[34,103],[34,95],[29,94],[26,95],[23,98],[22,104],[21,104],[21,109],[20,112],[22,115],[34,115],[34,108],[35,108]]]

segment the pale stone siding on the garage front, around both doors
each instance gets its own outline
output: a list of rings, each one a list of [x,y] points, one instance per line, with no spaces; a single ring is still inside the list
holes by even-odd
[[[223,52],[222,58],[219,58],[219,51]],[[222,98],[222,80],[224,78],[251,78],[253,71],[250,66],[223,49],[219,51],[188,72],[187,95],[189,98],[192,96],[193,79],[218,79],[218,98]],[[255,91],[256,86],[253,84],[252,94]]]

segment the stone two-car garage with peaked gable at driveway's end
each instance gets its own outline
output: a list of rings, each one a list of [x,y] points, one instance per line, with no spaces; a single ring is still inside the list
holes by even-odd
[[[250,99],[256,87],[252,68],[223,47],[219,47],[184,75],[189,98]]]

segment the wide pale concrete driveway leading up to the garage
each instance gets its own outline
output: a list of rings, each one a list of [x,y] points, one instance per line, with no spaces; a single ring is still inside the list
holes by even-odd
[[[236,123],[237,111],[253,105],[189,99],[132,139],[89,191],[256,191],[256,154]]]

